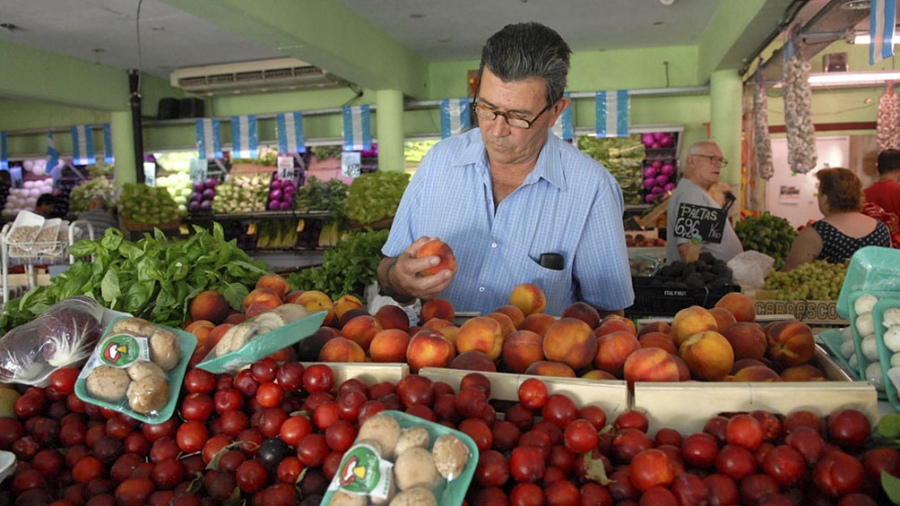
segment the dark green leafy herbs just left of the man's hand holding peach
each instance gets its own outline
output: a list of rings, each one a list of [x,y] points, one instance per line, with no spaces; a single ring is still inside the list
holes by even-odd
[[[381,262],[381,247],[390,230],[364,229],[352,232],[333,249],[325,250],[325,262],[318,267],[289,274],[288,283],[295,290],[319,290],[332,300],[353,294],[364,300],[365,288],[375,279]]]

